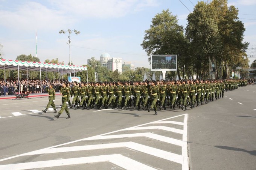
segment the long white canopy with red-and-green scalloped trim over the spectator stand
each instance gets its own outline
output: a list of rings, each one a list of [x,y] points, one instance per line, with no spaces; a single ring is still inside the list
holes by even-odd
[[[0,69],[18,70],[19,87],[20,87],[19,71],[23,71],[23,70],[40,71],[40,81],[41,81],[42,71],[46,71],[46,79],[47,79],[47,72],[58,72],[63,75],[63,74],[69,74],[69,73],[75,74],[76,72],[87,71],[86,66],[62,65],[62,64],[54,64],[54,63],[28,62],[28,61],[6,60],[6,59],[0,59]],[[88,71],[87,71],[87,75],[88,75]],[[5,77],[5,81],[6,81],[6,77]]]

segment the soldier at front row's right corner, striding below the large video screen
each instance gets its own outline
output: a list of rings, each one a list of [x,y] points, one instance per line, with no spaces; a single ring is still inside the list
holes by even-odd
[[[149,87],[151,105],[148,107],[148,112],[151,110],[151,108],[154,108],[154,115],[157,115],[156,102],[159,101],[159,89],[156,84],[157,82],[152,80]]]

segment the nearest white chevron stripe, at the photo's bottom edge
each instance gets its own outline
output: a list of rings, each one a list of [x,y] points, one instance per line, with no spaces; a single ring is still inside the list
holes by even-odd
[[[23,169],[35,169],[44,167],[57,167],[65,165],[76,165],[76,164],[88,164],[96,162],[106,162],[109,161],[127,170],[134,169],[145,169],[145,170],[155,170],[148,165],[142,164],[140,162],[134,161],[133,159],[127,158],[126,156],[120,154],[113,155],[100,155],[100,156],[88,156],[82,158],[70,158],[70,159],[56,159],[50,161],[38,161],[38,162],[27,162],[9,165],[0,165],[0,170],[23,170]]]

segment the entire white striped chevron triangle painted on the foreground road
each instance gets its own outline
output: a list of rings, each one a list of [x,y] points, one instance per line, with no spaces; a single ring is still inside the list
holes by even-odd
[[[165,120],[172,119],[175,117],[180,117],[180,116],[184,116],[183,122],[165,121]],[[169,128],[166,126],[147,126],[147,127],[145,127],[145,125],[157,124],[157,123],[176,123],[176,124],[183,123],[183,130]],[[141,127],[141,126],[144,126],[144,127]],[[123,134],[123,135],[109,135],[109,134],[113,134],[113,133],[120,132],[120,131],[130,131],[130,130],[140,130],[140,129],[160,129],[160,130],[165,130],[165,131],[176,132],[176,133],[183,134],[183,139],[181,141],[181,140],[168,138],[168,137],[157,135],[157,134],[152,134],[150,132],[135,133],[135,134]],[[181,146],[182,155],[167,152],[165,150],[160,150],[160,149],[150,147],[150,146],[145,146],[143,144],[135,143],[132,141],[120,142],[120,143],[94,144],[94,145],[86,145],[86,146],[59,147],[59,146],[64,146],[64,145],[71,144],[71,143],[76,143],[79,141],[101,140],[101,139],[122,138],[122,137],[148,137],[148,138],[156,139],[158,141],[164,141],[166,143],[175,144],[177,146]],[[187,153],[188,152],[188,150],[187,150],[187,114],[169,117],[166,119],[149,122],[149,123],[145,123],[142,125],[137,125],[137,126],[134,126],[131,128],[120,129],[117,131],[108,132],[108,133],[96,135],[93,137],[88,137],[88,138],[84,138],[84,139],[80,139],[80,140],[76,140],[76,141],[71,141],[68,143],[59,144],[59,145],[52,146],[52,147],[47,147],[45,149],[35,150],[32,152],[28,152],[28,153],[23,153],[21,155],[11,156],[9,158],[0,159],[0,161],[5,161],[8,159],[17,158],[19,156],[26,156],[26,155],[40,155],[40,154],[45,154],[45,153],[59,153],[59,152],[107,149],[107,148],[117,148],[117,147],[126,147],[129,149],[137,150],[139,152],[143,152],[143,153],[153,155],[153,156],[156,156],[159,158],[167,159],[169,161],[177,162],[182,165],[183,170],[189,170],[188,153]],[[61,159],[61,160],[58,159],[58,160],[50,160],[50,161],[0,165],[0,170],[1,169],[15,169],[16,166],[17,166],[17,169],[22,169],[25,166],[29,166],[27,168],[43,168],[43,167],[53,167],[53,166],[61,166],[61,165],[69,165],[69,164],[81,164],[81,163],[85,163],[90,158],[91,158],[92,162],[102,162],[101,158],[103,158],[104,156],[106,156],[107,159],[104,159],[103,161],[110,161],[110,162],[117,164],[120,167],[123,167],[125,169],[150,169],[151,168],[151,167],[148,167],[147,165],[144,165],[137,161],[134,161],[133,159],[126,158],[125,156],[122,156],[122,155],[120,156],[119,154],[114,154],[114,155],[118,155],[118,156],[115,156],[113,159],[109,155],[101,155],[101,156],[91,156],[91,157],[84,157],[84,158],[70,158],[70,159]],[[111,160],[109,160],[109,159],[111,159]],[[128,159],[128,160],[126,160],[126,159]],[[135,166],[137,166],[137,168],[135,168]]]

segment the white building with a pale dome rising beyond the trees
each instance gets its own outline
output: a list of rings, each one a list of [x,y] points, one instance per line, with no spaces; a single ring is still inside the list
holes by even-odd
[[[108,70],[116,71],[122,73],[122,59],[121,58],[111,58],[110,54],[102,53],[100,60],[98,60],[103,67],[107,67]],[[90,65],[91,59],[87,60],[87,65]]]

